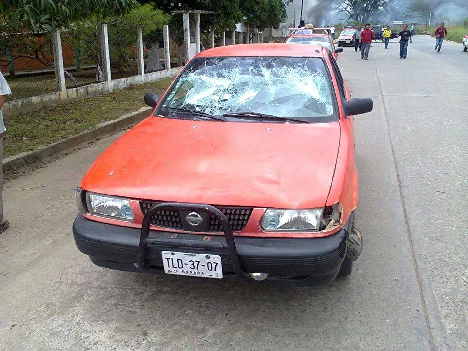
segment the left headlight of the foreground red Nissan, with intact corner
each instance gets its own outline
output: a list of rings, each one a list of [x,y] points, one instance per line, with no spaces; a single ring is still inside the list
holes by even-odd
[[[130,202],[126,199],[86,193],[88,211],[92,215],[118,218],[127,221],[133,220],[133,211]]]

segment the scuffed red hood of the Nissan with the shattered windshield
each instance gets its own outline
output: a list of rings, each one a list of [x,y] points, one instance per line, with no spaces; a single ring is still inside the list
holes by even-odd
[[[339,122],[242,123],[149,117],[111,145],[81,187],[135,199],[323,207]]]

